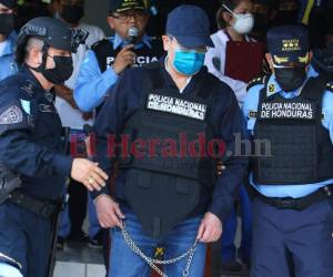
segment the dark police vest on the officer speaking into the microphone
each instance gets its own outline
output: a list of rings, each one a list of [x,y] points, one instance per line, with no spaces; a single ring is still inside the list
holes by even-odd
[[[91,49],[97,57],[101,72],[104,72],[113,64],[118,53],[121,51],[121,47],[113,49],[113,44],[109,40],[101,40],[92,45]],[[134,49],[133,52],[137,54],[133,66],[141,66],[158,61],[163,55],[163,44],[161,40],[153,39],[151,48],[143,43],[142,48]]]

